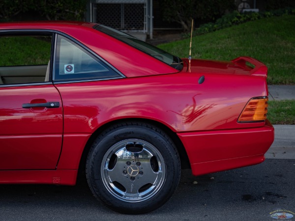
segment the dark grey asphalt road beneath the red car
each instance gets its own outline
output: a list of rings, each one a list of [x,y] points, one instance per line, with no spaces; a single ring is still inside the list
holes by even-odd
[[[275,211],[295,213],[294,184],[294,159],[266,159],[199,177],[183,170],[176,193],[163,207],[134,216],[104,207],[84,182],[74,187],[0,185],[0,220],[271,221]]]

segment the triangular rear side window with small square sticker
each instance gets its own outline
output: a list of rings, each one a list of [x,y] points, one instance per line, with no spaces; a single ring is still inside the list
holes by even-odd
[[[58,35],[55,81],[117,78],[120,75],[73,41]]]

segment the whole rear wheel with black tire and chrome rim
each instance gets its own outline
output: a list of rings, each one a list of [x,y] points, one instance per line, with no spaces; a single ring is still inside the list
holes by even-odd
[[[173,141],[162,130],[128,122],[96,138],[86,176],[93,195],[107,207],[142,214],[172,196],[180,178],[180,160]]]

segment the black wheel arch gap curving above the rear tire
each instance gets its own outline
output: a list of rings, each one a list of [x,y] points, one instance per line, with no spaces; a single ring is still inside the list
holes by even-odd
[[[89,152],[89,149],[91,147],[91,144],[94,142],[95,138],[101,133],[103,133],[105,130],[108,128],[120,124],[120,123],[127,123],[127,122],[136,122],[136,123],[147,123],[149,125],[155,126],[161,130],[163,130],[174,142],[174,144],[177,147],[177,151],[179,153],[180,157],[180,163],[181,163],[181,168],[182,169],[187,169],[190,168],[190,163],[189,159],[186,153],[186,150],[181,142],[181,140],[178,138],[177,134],[173,132],[169,127],[166,125],[155,121],[155,120],[150,120],[150,119],[143,119],[143,118],[124,118],[124,119],[118,119],[114,121],[110,121],[105,123],[104,125],[100,126],[88,139],[86,146],[83,150],[81,159],[80,159],[80,164],[79,164],[79,174],[84,174],[85,172],[85,165],[86,165],[86,160],[87,160],[87,155]]]

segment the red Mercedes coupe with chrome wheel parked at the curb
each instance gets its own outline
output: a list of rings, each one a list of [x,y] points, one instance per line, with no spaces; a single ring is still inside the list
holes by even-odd
[[[181,168],[265,160],[267,68],[180,59],[93,23],[0,24],[0,183],[75,185],[121,213],[163,205]]]

